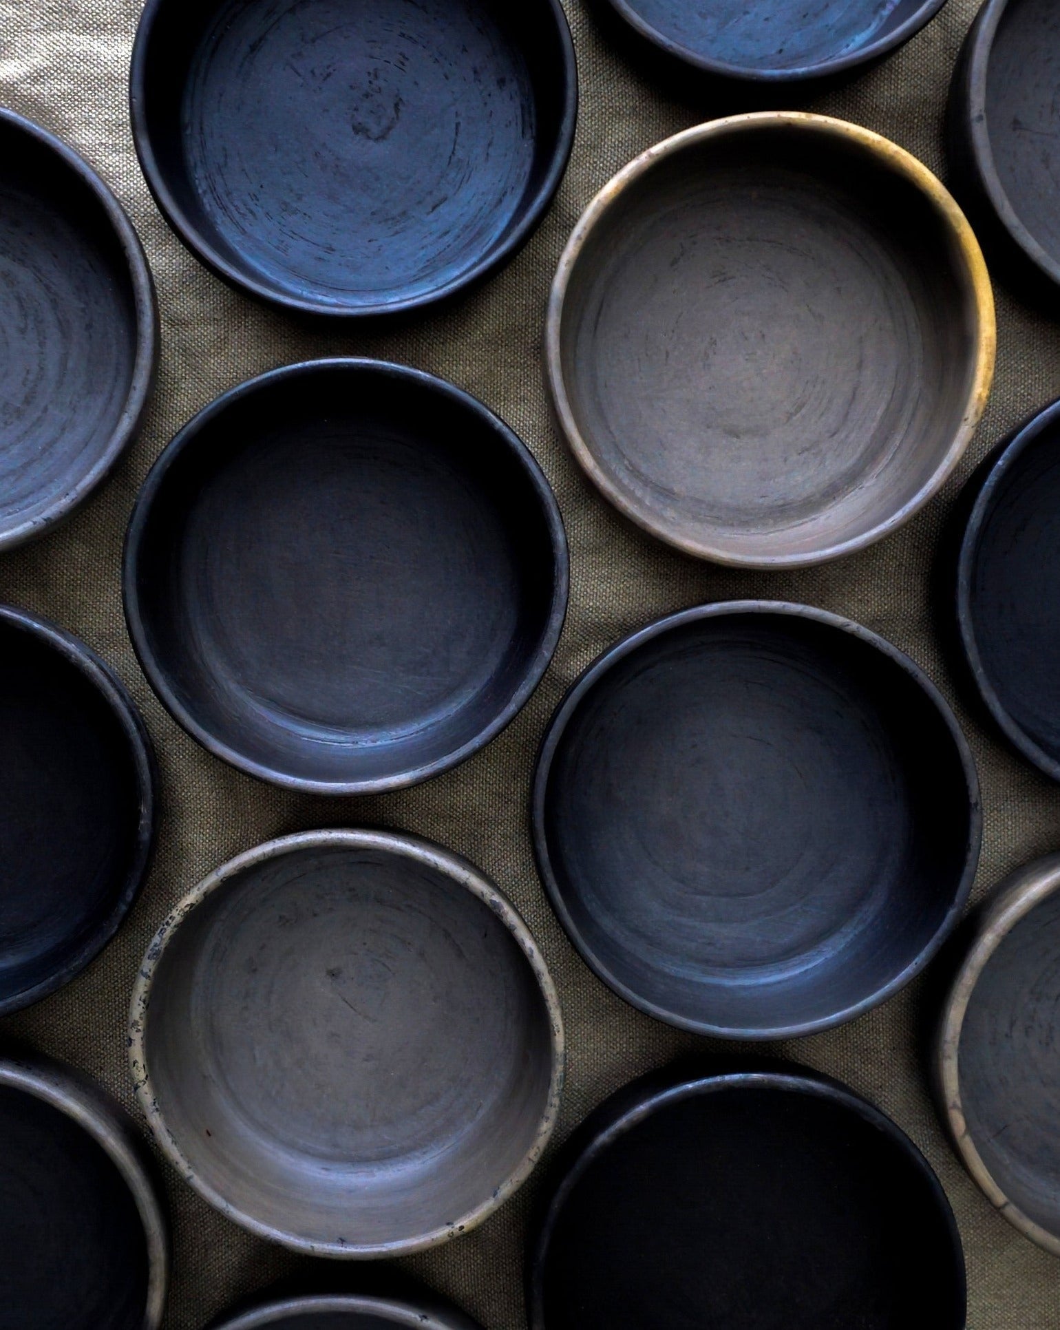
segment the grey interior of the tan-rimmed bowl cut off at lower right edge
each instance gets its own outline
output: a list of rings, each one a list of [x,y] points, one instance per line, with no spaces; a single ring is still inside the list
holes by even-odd
[[[1060,895],[1000,942],[972,990],[958,1045],[964,1121],[1005,1197],[1060,1238]]]

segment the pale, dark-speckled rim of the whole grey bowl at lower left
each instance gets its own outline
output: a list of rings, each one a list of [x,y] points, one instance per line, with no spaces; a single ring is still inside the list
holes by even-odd
[[[436,872],[443,874],[451,882],[464,887],[471,895],[480,900],[508,930],[520,952],[525,958],[537,982],[541,994],[545,1015],[551,1032],[551,1061],[552,1073],[545,1097],[545,1107],[537,1123],[536,1136],[527,1153],[520,1160],[516,1169],[493,1188],[491,1194],[465,1214],[431,1229],[427,1233],[414,1234],[408,1238],[399,1238],[390,1242],[318,1242],[299,1236],[271,1224],[265,1224],[253,1214],[229,1201],[211,1182],[196,1172],[178,1138],[170,1130],[162,1104],[160,1103],[154,1083],[149,1071],[148,1031],[150,1028],[150,1000],[158,967],[166,954],[168,946],[178,932],[185,919],[217,891],[223,891],[229,883],[238,879],[245,870],[261,863],[283,858],[289,854],[299,854],[303,850],[322,850],[330,847],[375,850],[398,858],[411,859]],[[275,841],[266,841],[251,850],[235,855],[221,867],[207,874],[198,886],[193,887],[172,910],[162,922],[144,956],[144,962],[137,972],[133,987],[132,1004],[129,1008],[129,1065],[132,1069],[133,1085],[140,1108],[148,1120],[148,1125],[154,1134],[154,1140],[161,1148],[168,1161],[176,1168],[180,1176],[206,1200],[214,1209],[226,1218],[257,1237],[278,1242],[293,1252],[309,1256],[334,1257],[344,1261],[367,1261],[378,1257],[410,1256],[414,1252],[426,1252],[430,1248],[451,1242],[454,1238],[477,1228],[493,1210],[503,1205],[525,1182],[536,1168],[549,1138],[556,1128],[560,1100],[564,1085],[565,1068],[565,1035],[563,1012],[556,986],[545,964],[541,948],[537,946],[533,934],[516,911],[515,906],[501,894],[501,891],[473,864],[451,850],[434,845],[420,837],[398,831],[372,830],[323,830],[299,831],[293,835],[281,837]]]

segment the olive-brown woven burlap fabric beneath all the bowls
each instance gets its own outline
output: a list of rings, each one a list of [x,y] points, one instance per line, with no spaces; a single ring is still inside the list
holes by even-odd
[[[1020,418],[1060,394],[1060,322],[1032,315],[997,286],[1000,359],[990,410],[958,480],[899,535],[857,557],[801,573],[733,573],[684,559],[625,524],[581,479],[549,419],[540,344],[548,283],[581,209],[632,156],[702,120],[702,112],[668,101],[610,51],[583,4],[568,0],[580,60],[581,118],[571,170],[528,249],[471,298],[399,331],[307,331],[207,275],[154,209],[137,168],[126,110],[126,65],[140,8],[141,0],[0,0],[0,102],[63,136],[116,189],[146,247],[162,313],[158,382],[141,438],[70,523],[0,557],[0,600],[72,629],[117,668],[154,738],[164,797],[154,870],[117,940],[61,994],[0,1021],[0,1033],[74,1063],[132,1107],[126,1008],[137,963],[174,900],[210,868],[270,837],[322,826],[408,829],[487,870],[540,940],[568,1025],[563,1136],[637,1073],[674,1055],[717,1047],[649,1020],[614,998],[572,951],[545,903],[524,810],[533,754],[564,688],[605,646],[664,612],[751,596],[849,614],[907,650],[952,696],[928,606],[932,549],[972,463]],[[975,0],[950,0],[899,55],[815,109],[868,125],[943,172],[944,94],[975,8]],[[532,702],[505,734],[458,771],[386,798],[302,798],[209,757],[177,729],[146,686],[121,613],[125,523],[137,487],[166,442],[242,379],[329,354],[395,359],[452,379],[487,402],[543,463],[571,539],[567,629]],[[1013,866],[1060,849],[1060,789],[1011,757],[971,717],[962,713],[962,720],[983,781],[979,896]],[[960,1221],[971,1330],[1057,1330],[1060,1264],[994,1214],[944,1144],[914,1037],[919,1015],[920,988],[914,986],[843,1029],[778,1051],[867,1095],[926,1150]],[[172,1330],[199,1330],[233,1298],[306,1269],[306,1262],[214,1214],[172,1173],[168,1186],[176,1238],[166,1322]],[[407,1262],[487,1330],[524,1326],[521,1245],[533,1189],[532,1182],[476,1233]]]

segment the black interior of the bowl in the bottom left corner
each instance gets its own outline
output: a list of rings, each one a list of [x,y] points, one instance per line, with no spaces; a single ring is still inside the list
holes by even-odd
[[[142,1330],[148,1242],[114,1162],[60,1109],[0,1085],[3,1330]]]

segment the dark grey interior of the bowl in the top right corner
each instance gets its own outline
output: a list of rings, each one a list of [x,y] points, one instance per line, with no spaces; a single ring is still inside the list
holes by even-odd
[[[1060,180],[1049,152],[1060,118],[1052,52],[1060,13],[1049,0],[1009,0],[987,63],[986,122],[994,166],[1019,221],[1060,263]]]

